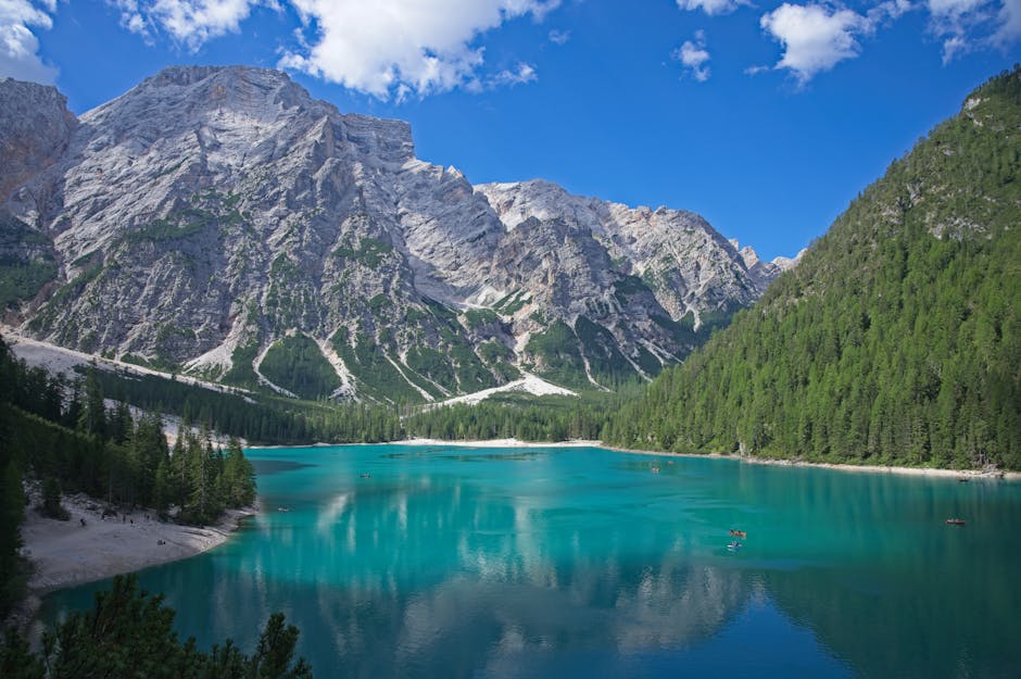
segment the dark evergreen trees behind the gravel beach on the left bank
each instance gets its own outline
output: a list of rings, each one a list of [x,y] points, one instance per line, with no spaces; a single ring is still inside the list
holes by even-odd
[[[188,524],[213,523],[255,499],[254,468],[236,439],[224,451],[207,429],[189,429],[172,454],[159,415],[136,422],[123,401],[108,408],[98,373],[51,376],[15,361],[0,340],[0,616],[24,588],[24,480],[40,483],[40,508],[53,518],[66,518],[63,492],[161,513],[175,505],[177,520]]]

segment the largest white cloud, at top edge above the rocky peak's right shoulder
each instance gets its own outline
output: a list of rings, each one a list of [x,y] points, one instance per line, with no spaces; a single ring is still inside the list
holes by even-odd
[[[291,0],[311,45],[280,66],[387,99],[482,87],[476,37],[531,14],[541,21],[559,0]]]

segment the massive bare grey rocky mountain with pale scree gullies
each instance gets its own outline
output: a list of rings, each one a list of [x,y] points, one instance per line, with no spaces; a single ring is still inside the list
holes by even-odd
[[[308,399],[648,378],[779,273],[691,213],[472,187],[275,71],[173,67],[79,118],[5,80],[0,130],[9,323]]]

